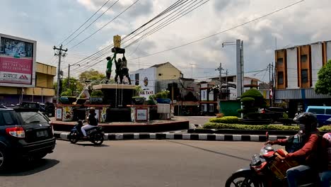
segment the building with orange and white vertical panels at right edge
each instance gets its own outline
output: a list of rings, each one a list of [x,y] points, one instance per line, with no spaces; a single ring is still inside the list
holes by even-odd
[[[294,115],[298,108],[305,110],[310,105],[328,105],[325,98],[315,94],[318,71],[331,60],[331,41],[315,42],[275,51],[276,103],[286,103],[289,113]]]

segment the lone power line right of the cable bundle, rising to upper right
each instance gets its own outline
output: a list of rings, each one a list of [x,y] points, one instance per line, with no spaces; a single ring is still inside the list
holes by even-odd
[[[267,14],[265,14],[264,16],[260,16],[260,17],[258,17],[258,18],[252,19],[251,21],[247,21],[247,22],[245,22],[245,23],[241,23],[241,24],[239,24],[238,26],[234,26],[234,27],[232,27],[232,28],[228,28],[228,29],[223,30],[223,31],[221,31],[221,32],[219,32],[219,33],[215,33],[215,34],[213,34],[213,35],[209,35],[209,36],[207,36],[207,37],[200,38],[200,39],[198,39],[198,40],[194,40],[194,41],[192,41],[192,42],[187,42],[187,43],[185,43],[185,44],[178,45],[177,47],[172,47],[172,48],[170,48],[170,49],[168,49],[168,50],[162,50],[162,51],[159,51],[159,52],[154,52],[154,53],[151,53],[151,54],[149,54],[149,55],[145,55],[145,56],[143,56],[143,57],[149,57],[149,56],[152,56],[152,55],[160,54],[160,53],[162,53],[162,52],[168,52],[168,51],[170,51],[170,50],[175,50],[175,49],[177,49],[177,48],[184,47],[184,46],[186,46],[186,45],[191,45],[191,44],[194,43],[194,42],[199,42],[199,41],[201,41],[201,40],[206,40],[207,38],[214,37],[215,35],[219,35],[219,34],[221,34],[221,33],[226,33],[226,32],[228,32],[229,30],[233,30],[233,29],[239,28],[239,27],[241,27],[241,26],[248,25],[249,23],[252,23],[252,22],[255,22],[255,21],[260,20],[260,19],[262,19],[262,18],[265,18],[265,17],[267,17],[267,16],[270,16],[270,15],[272,15],[272,14],[274,14],[274,13],[277,13],[277,12],[279,12],[279,11],[282,11],[282,10],[284,10],[284,9],[286,9],[286,8],[289,8],[289,7],[291,7],[291,6],[294,6],[294,5],[296,5],[296,4],[299,4],[299,3],[303,2],[303,1],[305,1],[305,0],[297,1],[297,2],[294,3],[294,4],[290,4],[290,5],[288,5],[288,6],[284,6],[283,8],[280,8],[280,9],[278,9],[278,10],[276,10],[276,11],[272,11],[271,13],[267,13]],[[143,58],[143,57],[139,57],[139,58]],[[137,57],[137,58],[138,58],[138,57]],[[131,60],[136,60],[137,58],[134,58],[134,59],[131,59]]]

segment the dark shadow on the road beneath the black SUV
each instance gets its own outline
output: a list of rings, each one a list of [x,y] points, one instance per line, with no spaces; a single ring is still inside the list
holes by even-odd
[[[1,171],[0,176],[28,176],[50,169],[57,164],[59,164],[59,161],[55,159],[41,159],[25,163],[17,162],[9,166],[6,171]]]

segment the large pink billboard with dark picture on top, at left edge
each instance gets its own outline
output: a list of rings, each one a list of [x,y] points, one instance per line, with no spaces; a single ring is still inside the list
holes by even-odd
[[[36,45],[36,41],[0,33],[0,86],[35,86]]]

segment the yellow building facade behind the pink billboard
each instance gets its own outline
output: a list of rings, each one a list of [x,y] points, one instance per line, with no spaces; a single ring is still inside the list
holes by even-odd
[[[3,86],[0,83],[0,104],[10,106],[22,101],[52,102],[55,95],[54,76],[57,68],[40,62],[35,64],[35,79],[33,80],[35,81],[35,87],[25,88],[20,84]]]

